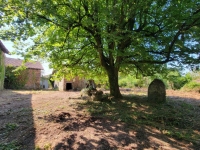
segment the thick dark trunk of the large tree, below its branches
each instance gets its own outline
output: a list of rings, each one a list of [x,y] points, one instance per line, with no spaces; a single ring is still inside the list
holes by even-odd
[[[118,69],[114,67],[110,68],[107,70],[107,74],[110,86],[110,96],[114,96],[114,98],[122,98],[118,84]]]

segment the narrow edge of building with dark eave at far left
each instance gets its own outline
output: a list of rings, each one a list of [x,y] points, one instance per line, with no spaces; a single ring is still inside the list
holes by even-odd
[[[3,45],[0,40],[0,90],[4,87],[5,78],[5,53],[9,54],[7,48]]]

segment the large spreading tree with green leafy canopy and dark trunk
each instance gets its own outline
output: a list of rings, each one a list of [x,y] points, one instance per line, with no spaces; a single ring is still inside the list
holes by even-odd
[[[199,0],[1,0],[0,19],[9,25],[1,38],[32,37],[26,57],[57,70],[104,71],[116,98],[119,71],[199,61]]]

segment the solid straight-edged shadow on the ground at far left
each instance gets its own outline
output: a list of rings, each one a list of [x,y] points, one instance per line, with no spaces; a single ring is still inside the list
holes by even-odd
[[[0,91],[0,149],[35,149],[31,98],[31,94]]]

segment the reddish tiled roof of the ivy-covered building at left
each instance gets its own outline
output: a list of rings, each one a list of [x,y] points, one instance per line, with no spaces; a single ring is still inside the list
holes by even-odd
[[[5,65],[6,66],[13,66],[13,67],[19,67],[22,65],[23,60],[21,59],[15,59],[15,58],[5,58]],[[44,68],[42,67],[41,63],[36,61],[36,62],[27,62],[25,63],[25,66],[27,68],[31,68],[31,69],[39,69],[39,70],[44,70]]]

